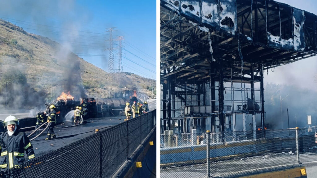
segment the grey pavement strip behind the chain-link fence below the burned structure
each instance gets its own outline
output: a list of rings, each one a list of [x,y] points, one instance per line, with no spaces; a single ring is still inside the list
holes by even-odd
[[[307,177],[315,178],[317,175],[317,161],[312,154],[300,154],[300,159],[306,166]],[[234,160],[210,162],[210,175],[212,177],[232,177],[233,175],[243,175],[247,172],[256,172],[262,169],[274,170],[283,165],[292,165],[296,161],[296,153],[282,152],[277,154],[267,154],[249,158],[236,158]],[[182,167],[172,167],[161,169],[161,178],[172,177],[206,177],[206,164],[196,164]]]

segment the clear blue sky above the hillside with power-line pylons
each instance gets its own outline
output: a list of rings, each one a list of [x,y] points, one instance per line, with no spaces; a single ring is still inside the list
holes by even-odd
[[[156,79],[156,2],[151,0],[0,0],[0,18],[48,37],[108,72],[109,28],[114,68],[122,40],[123,72]]]

